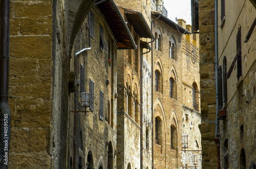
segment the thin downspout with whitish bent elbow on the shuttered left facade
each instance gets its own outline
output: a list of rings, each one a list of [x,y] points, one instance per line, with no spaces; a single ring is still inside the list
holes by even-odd
[[[90,17],[88,17],[88,20],[89,20]],[[77,58],[77,55],[80,54],[81,52],[83,51],[86,51],[86,50],[91,50],[91,23],[90,21],[88,22],[89,24],[89,29],[88,29],[88,38],[89,38],[89,47],[88,48],[83,48],[81,49],[80,51],[76,52],[75,53],[75,57],[74,57],[74,62],[75,62],[75,82],[77,82],[77,62],[76,62],[76,58]],[[74,94],[74,102],[75,102],[75,105],[74,105],[74,111],[76,111],[77,107],[76,107],[76,103],[77,103],[77,100],[76,100],[76,95],[77,95],[77,87],[75,87],[75,94]],[[76,112],[74,112],[74,137],[73,137],[73,144],[74,144],[74,158],[73,158],[73,168],[76,169],[76,145],[77,145],[77,142],[76,142],[76,135],[77,135],[77,132],[76,132]]]

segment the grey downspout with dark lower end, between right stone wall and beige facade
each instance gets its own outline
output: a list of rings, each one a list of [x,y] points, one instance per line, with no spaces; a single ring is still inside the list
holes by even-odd
[[[218,112],[219,112],[219,96],[218,96],[218,0],[215,0],[215,86],[216,86],[216,123],[215,123],[215,143],[217,146],[218,169],[220,169],[220,137],[218,136]]]

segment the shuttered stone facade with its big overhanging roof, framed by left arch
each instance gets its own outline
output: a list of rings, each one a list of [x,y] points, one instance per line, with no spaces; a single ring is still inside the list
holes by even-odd
[[[136,49],[136,45],[118,7],[106,1],[91,8],[76,36],[70,61],[76,82],[70,97],[74,110],[69,123],[70,168],[74,163],[75,168],[119,168],[117,50],[122,48]],[[81,108],[83,92],[90,92],[88,112]]]

